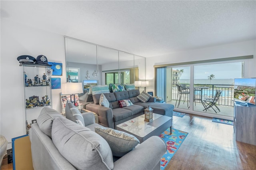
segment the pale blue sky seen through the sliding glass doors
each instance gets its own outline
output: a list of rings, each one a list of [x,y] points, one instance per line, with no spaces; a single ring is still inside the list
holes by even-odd
[[[190,79],[190,66],[173,67],[172,69],[184,69],[180,79]],[[214,79],[242,78],[242,62],[194,66],[194,79],[208,79],[211,74],[214,75]]]

